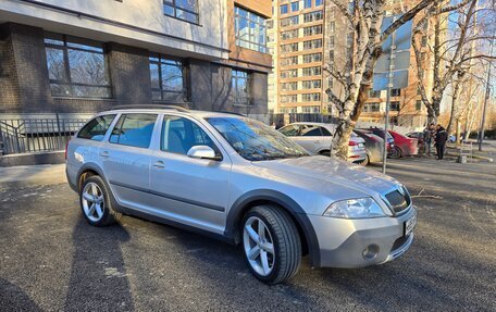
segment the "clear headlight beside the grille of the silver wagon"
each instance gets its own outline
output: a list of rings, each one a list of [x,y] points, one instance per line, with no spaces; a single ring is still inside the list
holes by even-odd
[[[340,200],[332,203],[325,216],[343,219],[364,219],[385,216],[383,209],[370,197]]]

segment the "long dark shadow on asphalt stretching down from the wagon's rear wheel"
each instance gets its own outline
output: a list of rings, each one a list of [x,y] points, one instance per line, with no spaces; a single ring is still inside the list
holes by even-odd
[[[80,216],[73,230],[74,257],[64,311],[133,311],[121,245],[129,239],[121,225],[90,226]]]

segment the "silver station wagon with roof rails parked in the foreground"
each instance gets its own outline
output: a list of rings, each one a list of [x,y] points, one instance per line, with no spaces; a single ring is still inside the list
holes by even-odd
[[[394,178],[309,155],[241,115],[146,108],[99,113],[67,145],[89,224],[136,215],[241,245],[268,284],[294,276],[305,254],[313,267],[361,267],[412,244],[417,212]]]

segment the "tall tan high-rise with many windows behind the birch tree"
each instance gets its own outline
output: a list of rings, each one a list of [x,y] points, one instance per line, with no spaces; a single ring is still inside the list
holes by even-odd
[[[400,13],[411,1],[392,1],[387,14]],[[268,22],[268,47],[274,71],[269,75],[269,110],[278,113],[324,113],[337,111],[325,90],[343,93],[343,86],[322,71],[323,65],[349,71],[346,63],[354,52],[354,34],[346,20],[328,0],[274,0],[273,18]],[[418,16],[416,21],[421,18]],[[429,27],[429,25],[427,25]],[[422,39],[422,73],[426,89],[432,85],[427,43]],[[423,126],[426,111],[418,92],[417,65],[411,51],[409,85],[392,90],[390,120],[394,125]],[[427,95],[429,96],[429,95]],[[383,122],[386,91],[371,91],[360,117],[364,122]]]

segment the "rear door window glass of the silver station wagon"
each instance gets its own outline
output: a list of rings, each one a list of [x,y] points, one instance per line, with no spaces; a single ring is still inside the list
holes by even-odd
[[[121,115],[110,135],[110,142],[137,148],[150,147],[156,114]]]

